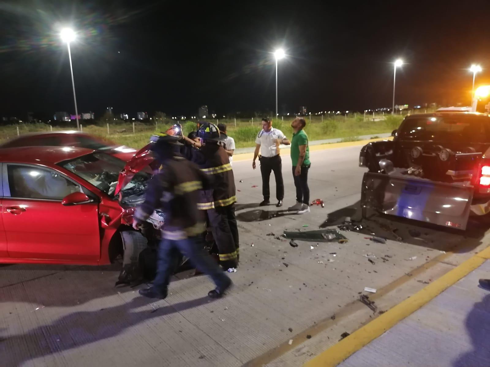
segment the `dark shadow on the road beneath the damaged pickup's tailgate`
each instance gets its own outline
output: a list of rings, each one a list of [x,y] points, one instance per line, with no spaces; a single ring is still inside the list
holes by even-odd
[[[430,223],[414,221],[375,212],[368,219],[362,219],[360,201],[351,206],[334,210],[327,214],[320,228],[336,227],[350,217],[353,224],[361,224],[362,229],[353,230],[366,237],[383,237],[389,240],[423,246],[434,250],[470,252],[481,244],[485,233],[490,229],[490,217],[470,217],[465,231],[445,228]],[[348,236],[348,231],[341,232]],[[447,241],[448,236],[456,240]],[[456,247],[456,249],[455,249]]]

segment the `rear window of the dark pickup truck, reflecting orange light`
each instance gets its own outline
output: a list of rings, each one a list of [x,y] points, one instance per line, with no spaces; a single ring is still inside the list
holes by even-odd
[[[482,115],[410,116],[398,130],[404,140],[479,143],[488,142],[490,118]]]

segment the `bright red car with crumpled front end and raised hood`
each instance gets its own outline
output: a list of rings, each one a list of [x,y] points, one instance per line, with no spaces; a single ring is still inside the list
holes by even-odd
[[[159,240],[163,215],[155,212],[142,232],[132,230],[151,169],[133,172],[116,194],[126,165],[116,155],[76,147],[0,149],[0,263],[103,265],[123,254],[120,279],[130,277],[140,252]]]

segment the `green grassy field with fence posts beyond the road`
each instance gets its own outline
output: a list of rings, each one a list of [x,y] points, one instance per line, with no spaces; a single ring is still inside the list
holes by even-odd
[[[289,117],[289,116],[288,116]],[[402,118],[402,115],[395,116],[383,116],[376,115],[367,116],[364,115],[349,115],[345,116],[312,116],[306,118],[305,131],[308,134],[310,140],[320,140],[329,138],[343,138],[345,141],[355,141],[357,137],[362,135],[372,135],[388,133],[393,129],[396,129]],[[255,146],[255,138],[257,133],[262,129],[261,119],[250,120],[235,120],[234,119],[220,119],[220,120],[208,120],[214,123],[222,122],[228,127],[228,135],[235,139],[237,148],[252,147]],[[282,132],[291,138],[293,131],[291,129],[292,118],[277,119],[273,122],[273,126],[282,130]],[[115,121],[97,121],[88,125],[83,125],[81,120],[82,130],[85,133],[96,135],[107,141],[116,142],[118,144],[124,144],[133,148],[141,148],[147,144],[151,134],[156,131],[165,131],[170,127],[175,120],[166,119],[164,121],[153,122],[125,122],[121,120]],[[195,121],[181,121],[185,134],[196,129]],[[18,123],[11,125],[0,126],[0,142],[17,137],[17,129],[19,134],[35,133],[35,132],[47,132],[57,130],[74,130],[76,124],[68,122],[62,126],[50,126],[45,123]]]

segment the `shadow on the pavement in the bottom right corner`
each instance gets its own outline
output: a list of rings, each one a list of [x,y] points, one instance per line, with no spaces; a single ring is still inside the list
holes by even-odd
[[[481,302],[475,303],[466,318],[466,330],[473,344],[473,350],[460,355],[453,362],[453,366],[489,366],[490,294]]]

